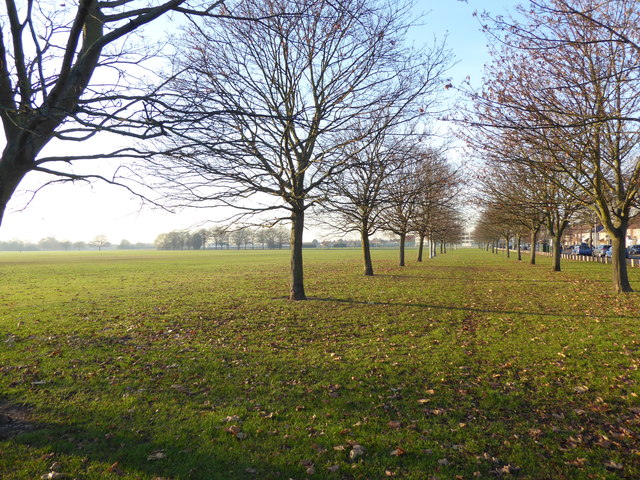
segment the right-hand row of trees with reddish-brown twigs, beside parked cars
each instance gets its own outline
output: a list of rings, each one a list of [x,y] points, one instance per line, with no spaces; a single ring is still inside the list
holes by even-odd
[[[640,4],[529,0],[515,18],[482,21],[495,40],[493,62],[465,118],[467,140],[485,160],[479,228],[535,237],[544,225],[559,270],[562,235],[588,209],[612,239],[614,289],[631,291],[625,242],[640,191]]]

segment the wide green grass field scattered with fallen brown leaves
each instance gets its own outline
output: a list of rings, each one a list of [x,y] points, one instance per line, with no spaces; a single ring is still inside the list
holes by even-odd
[[[374,255],[0,254],[0,478],[640,478],[610,265]]]

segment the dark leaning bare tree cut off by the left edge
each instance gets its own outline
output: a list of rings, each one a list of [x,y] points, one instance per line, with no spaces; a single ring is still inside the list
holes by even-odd
[[[127,70],[144,64],[153,52],[124,44],[131,45],[132,33],[168,12],[206,15],[221,3],[196,11],[186,0],[5,0],[0,6],[0,121],[5,142],[0,222],[30,172],[49,174],[52,182],[101,179],[120,184],[116,177],[74,173],[68,166],[75,160],[137,155],[133,148],[64,156],[42,155],[43,149],[52,140],[80,142],[99,132],[136,139],[161,135],[161,126],[147,112],[155,93],[137,88],[139,79],[124,80]]]

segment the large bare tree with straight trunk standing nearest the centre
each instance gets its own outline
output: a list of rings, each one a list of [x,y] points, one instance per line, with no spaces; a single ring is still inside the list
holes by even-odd
[[[162,112],[175,121],[175,152],[155,166],[180,204],[227,205],[241,215],[284,211],[291,225],[290,298],[306,298],[302,235],[318,187],[347,167],[346,142],[359,118],[389,111],[405,121],[439,87],[448,65],[441,45],[416,52],[404,42],[409,4],[377,0],[248,0],[257,23],[217,20],[183,38]],[[298,12],[304,12],[298,14]],[[424,108],[424,107],[422,107]],[[260,195],[256,195],[260,193]]]

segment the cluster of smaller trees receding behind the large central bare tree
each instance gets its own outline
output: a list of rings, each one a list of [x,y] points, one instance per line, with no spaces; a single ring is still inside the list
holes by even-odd
[[[324,222],[347,234],[358,233],[365,275],[374,274],[369,239],[379,230],[399,237],[400,266],[405,265],[410,233],[419,238],[418,261],[425,239],[435,248],[437,241],[457,243],[461,238],[462,175],[442,151],[415,140],[380,135],[363,148],[355,146],[352,167],[327,186],[321,206]]]

